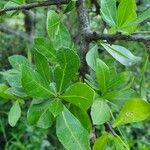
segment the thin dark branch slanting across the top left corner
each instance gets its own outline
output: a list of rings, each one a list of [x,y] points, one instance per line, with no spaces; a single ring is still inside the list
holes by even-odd
[[[33,2],[33,3],[29,3],[29,4],[12,6],[12,7],[1,9],[0,10],[0,15],[6,13],[8,11],[29,10],[29,9],[36,8],[36,7],[67,4],[68,2],[69,2],[69,0],[47,0],[47,1],[43,1],[43,2]]]

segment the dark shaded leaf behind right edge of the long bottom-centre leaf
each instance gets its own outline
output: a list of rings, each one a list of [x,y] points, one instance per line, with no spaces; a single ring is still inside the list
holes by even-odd
[[[88,113],[79,107],[76,107],[75,105],[71,105],[69,110],[80,121],[82,126],[90,133],[92,130],[92,123]]]

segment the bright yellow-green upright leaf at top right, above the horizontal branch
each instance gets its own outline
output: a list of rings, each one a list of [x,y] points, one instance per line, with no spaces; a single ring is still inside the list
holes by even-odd
[[[118,6],[118,26],[122,27],[124,24],[131,22],[137,17],[136,15],[136,1],[135,0],[121,0]],[[136,28],[135,25],[126,28],[125,31],[132,32]]]

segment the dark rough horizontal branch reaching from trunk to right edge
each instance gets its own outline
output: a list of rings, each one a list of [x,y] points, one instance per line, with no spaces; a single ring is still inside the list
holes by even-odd
[[[86,40],[91,41],[98,41],[98,40],[106,40],[110,42],[114,42],[116,40],[125,40],[125,41],[137,41],[137,42],[147,42],[150,41],[150,36],[143,36],[140,34],[137,35],[122,35],[122,34],[98,34],[96,32],[88,32],[86,33]]]

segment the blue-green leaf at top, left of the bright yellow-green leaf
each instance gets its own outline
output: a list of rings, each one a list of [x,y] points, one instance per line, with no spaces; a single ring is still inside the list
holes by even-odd
[[[101,0],[102,18],[108,25],[117,26],[117,10],[115,0]]]

